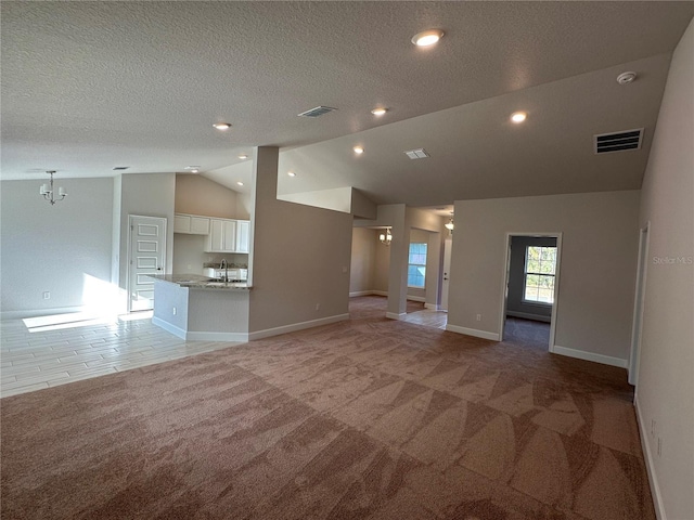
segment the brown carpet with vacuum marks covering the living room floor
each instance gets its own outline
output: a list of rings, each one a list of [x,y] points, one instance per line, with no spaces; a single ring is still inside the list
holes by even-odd
[[[654,519],[626,372],[352,320],[0,401],[3,519]]]

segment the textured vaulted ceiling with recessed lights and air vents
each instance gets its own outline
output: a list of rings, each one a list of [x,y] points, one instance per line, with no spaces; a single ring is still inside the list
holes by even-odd
[[[281,174],[284,193],[352,185],[378,203],[434,206],[639,187],[694,2],[1,9],[2,179],[198,165],[237,188],[249,176],[237,155],[277,145],[282,172],[297,170]],[[446,31],[437,47],[410,43],[432,27]],[[625,69],[639,79],[620,87]],[[318,105],[338,110],[296,117]],[[389,112],[375,118],[376,105]],[[516,109],[529,114],[523,126],[507,122]],[[592,154],[594,133],[641,127],[642,151]],[[367,153],[356,158],[355,144]],[[417,146],[432,157],[409,161],[402,152]]]

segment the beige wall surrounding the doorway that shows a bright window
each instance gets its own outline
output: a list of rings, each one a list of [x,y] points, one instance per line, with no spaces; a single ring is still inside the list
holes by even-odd
[[[506,233],[563,233],[555,344],[626,366],[639,198],[626,191],[455,202],[449,326],[499,335]]]

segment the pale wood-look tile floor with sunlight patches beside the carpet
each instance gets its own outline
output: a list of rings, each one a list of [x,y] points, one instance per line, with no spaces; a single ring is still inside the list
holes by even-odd
[[[0,322],[0,396],[240,344],[184,341],[153,325],[151,317],[72,314]]]

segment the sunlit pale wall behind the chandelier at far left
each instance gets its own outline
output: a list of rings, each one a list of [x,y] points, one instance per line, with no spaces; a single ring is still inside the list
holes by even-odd
[[[3,317],[77,310],[87,285],[111,282],[113,179],[63,179],[67,197],[51,206],[40,181],[2,181]],[[51,294],[43,299],[43,292]]]

